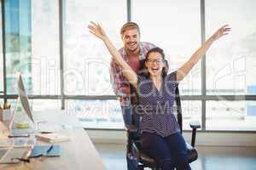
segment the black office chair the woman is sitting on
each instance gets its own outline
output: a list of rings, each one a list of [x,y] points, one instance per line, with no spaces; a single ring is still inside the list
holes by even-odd
[[[177,122],[179,124],[179,127],[181,129],[181,132],[183,132],[183,116],[182,116],[182,109],[181,109],[181,99],[179,96],[179,90],[178,87],[176,88],[176,102],[174,102],[176,105],[177,110]],[[192,161],[195,161],[198,157],[197,151],[195,150],[195,135],[196,135],[196,129],[200,128],[201,125],[199,122],[190,122],[190,127],[192,128],[192,138],[191,138],[191,144],[187,144],[188,149],[188,156],[189,156],[189,163]],[[143,152],[142,146],[140,144],[140,139],[138,135],[138,128],[139,125],[137,124],[131,124],[126,126],[127,130],[127,138],[128,138],[128,153],[131,153],[131,159],[136,158],[137,159],[137,170],[143,170],[144,167],[149,167],[152,170],[160,170],[160,167],[158,166],[157,162],[149,157],[147,154]]]

